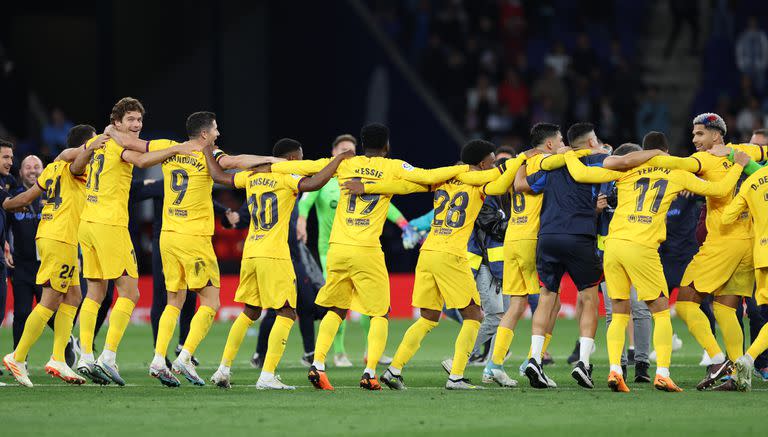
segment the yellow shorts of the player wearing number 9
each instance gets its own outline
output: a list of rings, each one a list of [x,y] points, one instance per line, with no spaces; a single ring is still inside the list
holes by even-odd
[[[160,257],[168,291],[197,291],[208,285],[221,285],[219,262],[209,235],[162,231]]]

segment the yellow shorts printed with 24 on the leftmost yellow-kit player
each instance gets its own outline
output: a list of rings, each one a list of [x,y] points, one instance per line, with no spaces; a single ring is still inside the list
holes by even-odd
[[[80,285],[80,260],[77,246],[50,238],[38,238],[40,268],[35,283],[66,293],[69,287]]]

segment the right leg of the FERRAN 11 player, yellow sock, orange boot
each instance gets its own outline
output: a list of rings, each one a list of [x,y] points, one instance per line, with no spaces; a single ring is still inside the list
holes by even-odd
[[[653,316],[653,347],[656,350],[656,377],[653,386],[657,390],[681,392],[683,389],[672,381],[669,367],[672,363],[672,319],[669,315],[669,298],[659,296],[646,301]]]

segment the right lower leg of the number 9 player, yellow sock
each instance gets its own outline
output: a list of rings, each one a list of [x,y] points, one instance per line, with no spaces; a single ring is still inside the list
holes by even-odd
[[[195,370],[195,365],[192,364],[192,354],[195,353],[197,347],[205,336],[208,335],[208,331],[211,329],[211,325],[213,325],[213,320],[216,318],[216,312],[219,310],[221,303],[219,300],[219,287],[208,285],[198,290],[197,295],[200,298],[200,307],[189,324],[189,335],[184,342],[184,348],[173,361],[171,367],[174,372],[183,375],[192,384],[202,386],[205,385],[205,381],[200,378],[197,370]],[[181,302],[183,303],[183,300]]]

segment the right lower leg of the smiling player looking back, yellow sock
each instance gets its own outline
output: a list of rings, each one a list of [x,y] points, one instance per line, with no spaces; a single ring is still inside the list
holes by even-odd
[[[128,323],[131,321],[133,309],[139,301],[139,280],[138,278],[123,275],[115,279],[115,287],[119,297],[115,301],[112,313],[109,316],[109,329],[107,329],[107,337],[104,341],[104,350],[96,360],[93,369],[94,373],[101,374],[101,377],[107,377],[112,382],[123,386],[125,381],[120,376],[116,362],[117,348],[120,346],[123,334],[125,334]],[[106,289],[103,290],[106,291]]]

